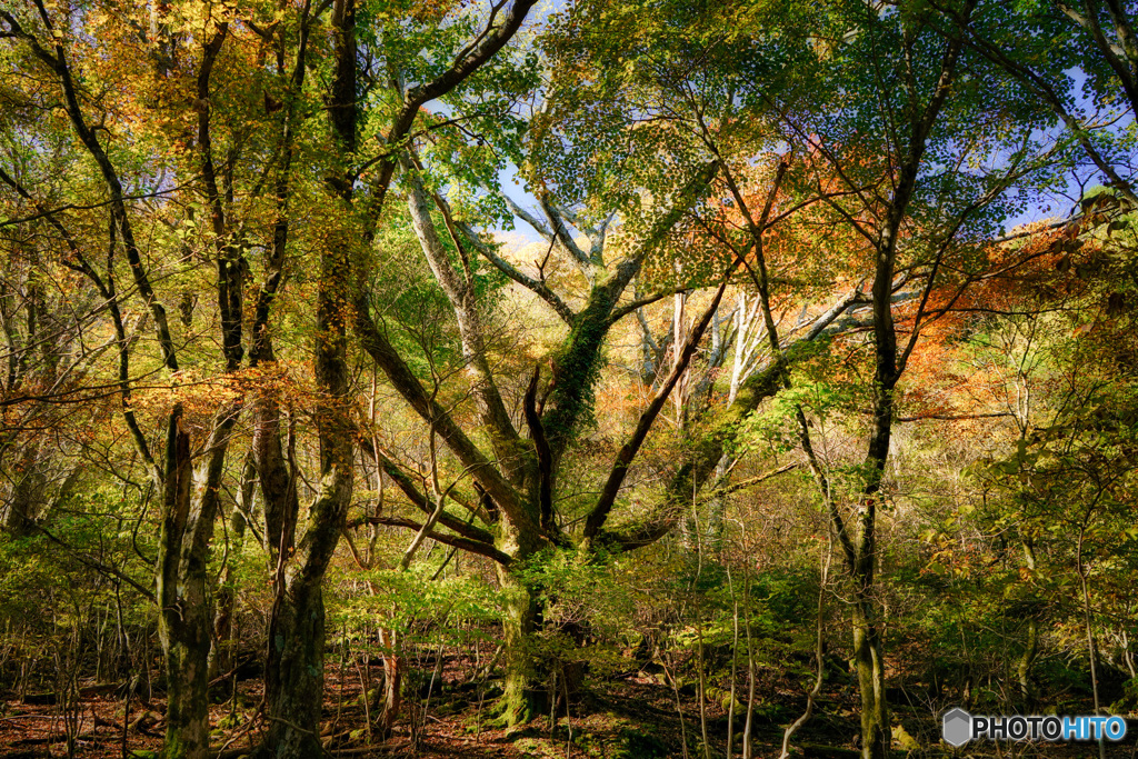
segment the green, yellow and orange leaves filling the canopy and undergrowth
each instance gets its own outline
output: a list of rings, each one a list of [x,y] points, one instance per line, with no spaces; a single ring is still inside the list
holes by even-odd
[[[824,547],[830,514],[819,513],[806,469],[733,489],[772,464],[801,463],[801,415],[847,525],[877,529],[868,595],[881,612],[892,682],[925,693],[931,711],[967,694],[972,706],[995,712],[1020,698],[1017,662],[1030,659],[1030,682],[1053,703],[1086,710],[1089,635],[1098,646],[1103,702],[1138,708],[1135,680],[1122,682],[1135,662],[1129,641],[1138,635],[1131,621],[1138,612],[1131,587],[1138,572],[1138,211],[1128,199],[1138,127],[1125,67],[1102,55],[1089,22],[1041,0],[983,0],[974,10],[954,0],[580,0],[539,22],[531,17],[460,85],[424,104],[410,132],[388,142],[407,97],[486,39],[479,35],[487,6],[361,0],[356,57],[341,61],[358,67],[348,93],[356,138],[348,150],[329,129],[343,108],[329,89],[343,43],[330,14],[341,3],[151,5],[44,3],[6,10],[0,20],[6,684],[56,687],[60,662],[104,679],[148,671],[156,610],[146,596],[171,477],[162,457],[168,412],[174,403],[184,406],[197,488],[207,469],[201,464],[221,449],[209,442],[218,411],[233,402],[239,418],[215,493],[222,515],[246,512],[246,534],[201,526],[193,550],[181,556],[205,572],[205,603],[240,621],[216,647],[221,658],[259,657],[267,647],[265,620],[291,600],[273,595],[271,578],[278,570],[307,578],[323,559],[332,562],[328,638],[338,630],[345,651],[391,653],[378,650],[376,632],[384,629],[411,655],[451,647],[461,659],[502,641],[503,619],[531,607],[539,612],[535,629],[517,643],[528,657],[527,676],[587,670],[585,685],[595,686],[613,674],[667,665],[668,674],[657,674],[685,696],[703,675],[715,707],[737,710],[727,673],[751,654],[764,675],[786,680],[758,704],[760,717],[783,720],[791,710],[772,694],[785,696],[787,683],[798,688],[810,679],[819,595],[827,687],[851,685],[840,662],[849,654],[844,602],[857,562],[836,542]],[[501,22],[506,9],[494,13]],[[1105,24],[1108,13],[1099,9],[1098,20]],[[55,33],[44,16],[56,19]],[[223,20],[228,36],[208,97],[198,98],[201,46]],[[15,23],[25,28],[17,32]],[[1122,51],[1112,55],[1132,57],[1125,41],[1114,39],[1124,25],[1104,24],[1106,48],[1116,41]],[[292,72],[302,32],[310,57]],[[956,60],[958,33],[967,43]],[[72,104],[61,94],[63,63],[46,64],[28,35],[44,49],[59,41],[86,132],[64,110]],[[955,61],[951,72],[946,61]],[[932,107],[941,94],[943,102]],[[925,123],[924,114],[937,117]],[[90,149],[94,139],[117,172],[113,180]],[[443,215],[431,212],[444,263],[469,278],[504,429],[486,421],[483,391],[490,382],[468,371],[454,308],[419,248],[403,197],[409,176],[397,168],[390,187],[377,181],[393,158],[413,165],[415,179],[447,200],[461,226],[456,242]],[[772,192],[783,158],[784,182]],[[211,162],[216,206],[205,181]],[[522,203],[554,204],[579,231],[603,224],[609,237],[597,248],[604,261],[567,274],[572,264],[551,263],[566,257],[556,245],[542,262],[492,240],[494,230],[516,222],[501,187],[512,173],[530,196]],[[1094,181],[1104,184],[1075,199],[1078,217],[1065,228],[992,242],[1029,201],[1049,203],[1047,196],[1070,192],[1069,184]],[[119,190],[122,208],[114,201]],[[753,211],[768,193],[777,223],[759,246],[739,197]],[[567,320],[568,328],[550,325],[538,311],[546,306],[533,305],[547,294],[519,290],[476,250],[468,228],[497,246],[517,267],[513,277],[541,280],[536,290],[555,289],[577,319]],[[133,262],[129,229],[139,245]],[[659,429],[674,429],[653,431],[629,469],[622,512],[605,525],[605,537],[670,525],[683,534],[611,555],[572,547],[579,518],[595,505],[596,484],[659,387],[634,364],[654,350],[649,363],[659,373],[675,349],[652,332],[665,321],[667,296],[684,289],[692,303],[706,303],[706,288],[736,255],[752,267],[752,246],[762,247],[766,295],[786,344],[835,295],[853,287],[867,292],[881,236],[890,230],[898,234],[894,327],[869,323],[861,298],[833,331],[864,332],[798,343],[784,376],[778,356],[764,353],[761,335],[752,330],[733,345],[725,306],[716,328],[726,347],[712,357],[702,346],[676,390],[695,395],[699,388],[703,397],[681,399],[674,418],[661,419]],[[604,237],[597,229],[589,234]],[[271,338],[275,369],[242,363],[229,372],[217,349],[228,303],[218,283],[230,255],[239,292],[228,295],[245,330],[241,344],[248,349],[255,337]],[[922,281],[934,269],[926,300]],[[629,271],[636,274],[626,288],[608,289],[618,272]],[[744,271],[731,288],[753,298],[758,278]],[[361,352],[348,327],[357,292],[463,435],[435,435],[438,420],[424,420],[434,410],[424,414],[419,403],[409,411],[405,402],[421,398],[393,388],[379,360]],[[613,310],[653,297],[659,300],[637,314],[648,314],[643,332],[630,316],[610,323]],[[315,328],[318,302],[330,332]],[[908,355],[918,304],[925,331]],[[154,337],[163,314],[178,349],[176,373],[163,369]],[[254,336],[259,317],[267,320],[258,327],[264,332]],[[340,327],[344,343],[327,349]],[[866,378],[871,354],[890,330],[912,362],[908,376],[927,361],[918,379],[900,386],[899,409],[927,402],[932,413],[898,411],[881,482],[884,505],[871,525],[859,496],[880,471],[876,462],[865,463],[871,420],[864,412],[881,388]],[[930,340],[939,340],[939,353],[923,357]],[[726,368],[734,352],[748,350],[741,365],[757,371],[725,409]],[[343,356],[343,387],[335,393],[328,363],[314,361],[329,354]],[[527,429],[522,410],[535,361],[552,369],[538,405],[547,437],[564,452],[553,472],[555,528],[514,529],[503,492],[517,496],[509,505],[519,512],[536,511],[537,432]],[[706,382],[696,377],[704,369]],[[279,430],[256,415],[269,399],[281,407]],[[369,403],[374,424],[360,413]],[[358,427],[341,430],[343,419]],[[912,419],[920,421],[906,429],[902,420]],[[343,436],[330,436],[333,427]],[[513,428],[517,437],[508,435]],[[411,523],[403,514],[414,509],[370,456],[355,455],[368,447],[356,445],[364,440],[397,460],[424,493],[436,475],[459,480],[446,515],[461,519],[465,531],[455,521],[436,525],[439,543],[428,538],[409,571],[376,569],[393,566],[406,545],[410,533],[397,530]],[[280,562],[262,523],[270,478],[244,467],[247,452],[255,452],[253,462],[273,442],[302,504],[289,518],[324,530],[321,539],[298,536]],[[337,445],[347,454],[333,467]],[[685,472],[696,465],[718,471],[693,484]],[[324,513],[333,469],[343,475],[345,467],[354,469],[354,502]],[[247,487],[246,477],[265,481]],[[712,487],[716,494],[706,498]],[[339,494],[347,500],[347,492],[345,485]],[[195,489],[195,509],[208,493]],[[22,500],[32,503],[26,515],[13,511]],[[718,531],[685,529],[688,508],[692,522],[718,510]],[[349,510],[368,522],[352,528],[354,535],[373,528],[365,559],[355,545],[337,545],[337,520]],[[431,550],[443,539],[456,543],[460,533],[480,555],[447,554],[454,563],[445,564]],[[715,533],[714,541],[703,541],[704,533]],[[611,537],[608,545],[621,541]],[[509,567],[494,567],[487,555],[516,550],[526,555]],[[819,554],[827,550],[830,585],[819,588]],[[349,553],[370,569],[349,566]],[[740,626],[744,642],[736,643]],[[434,682],[430,668],[407,673],[409,692]],[[221,729],[245,719],[238,703],[234,698]],[[455,704],[445,708],[460,709]],[[819,704],[827,719],[844,709],[841,694]],[[595,756],[675,753],[660,734],[634,725],[621,724],[615,740],[582,732],[577,741]]]

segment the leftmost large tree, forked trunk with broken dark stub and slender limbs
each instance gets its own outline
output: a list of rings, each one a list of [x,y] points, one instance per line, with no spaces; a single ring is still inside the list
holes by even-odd
[[[108,155],[102,138],[91,125],[85,108],[88,92],[76,83],[74,53],[65,47],[73,25],[69,18],[52,17],[43,5],[36,6],[36,16],[23,23],[5,11],[8,25],[6,36],[25,43],[38,63],[44,67],[58,88],[63,108],[71,122],[75,138],[82,143],[89,159],[96,164],[105,184],[110,211],[110,249],[121,248],[126,257],[134,286],[150,311],[163,363],[171,372],[179,371],[178,349],[166,317],[166,310],[155,294],[149,266],[142,258],[134,232],[123,180],[115,160]],[[25,24],[27,25],[25,27]],[[34,24],[34,26],[32,26]],[[34,30],[34,31],[33,31]],[[213,64],[228,31],[226,22],[215,26],[204,44],[197,71],[198,97],[207,99]],[[47,40],[50,40],[47,41]],[[90,107],[90,106],[86,106]],[[105,117],[104,117],[105,118]],[[101,121],[101,119],[100,119]],[[238,368],[241,360],[241,300],[238,283],[236,249],[226,244],[226,222],[222,211],[211,148],[212,124],[208,107],[199,108],[197,146],[200,159],[203,195],[211,209],[215,256],[218,267],[217,299],[222,317],[222,354],[228,371]],[[156,600],[159,604],[159,637],[167,668],[167,732],[164,751],[171,757],[200,757],[208,750],[206,718],[206,659],[209,652],[209,612],[206,603],[206,552],[213,535],[217,511],[217,488],[222,473],[230,434],[237,421],[240,404],[223,402],[213,414],[212,429],[206,446],[206,461],[201,464],[197,488],[191,484],[190,434],[185,429],[182,403],[175,402],[167,416],[167,440],[159,459],[138,428],[130,406],[130,385],[126,343],[115,294],[114,273],[100,275],[88,263],[88,256],[66,234],[58,220],[58,230],[71,242],[67,265],[84,273],[112,308],[121,355],[119,387],[123,415],[132,428],[140,457],[149,464],[155,486],[163,493],[162,539],[159,541]],[[160,463],[158,463],[160,462]]]

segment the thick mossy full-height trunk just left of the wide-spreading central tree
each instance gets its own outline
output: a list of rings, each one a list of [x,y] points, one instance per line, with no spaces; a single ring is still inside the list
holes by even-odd
[[[355,18],[354,0],[332,3],[335,53],[329,118],[344,160],[351,160],[355,151]],[[300,18],[300,44],[292,73],[297,90],[304,82],[311,20],[306,6]],[[295,114],[289,108],[283,133],[289,158],[294,118]],[[319,248],[313,365],[320,393],[313,413],[319,430],[320,487],[295,551],[291,548],[299,511],[295,464],[281,448],[280,411],[275,398],[262,399],[265,428],[259,429],[261,437],[255,438],[262,490],[266,498],[266,538],[275,559],[265,662],[265,704],[270,725],[264,750],[278,759],[305,759],[323,752],[320,743],[324,691],[323,580],[352,501],[355,454],[348,399],[347,317],[343,305],[348,302],[352,291],[361,236],[353,224],[352,183],[344,180],[345,174],[344,166],[330,167],[325,179],[331,188],[328,198],[331,208],[314,221],[324,231]],[[286,168],[278,182],[281,221],[274,230],[274,277],[279,274],[288,241],[289,229],[284,216],[288,196]],[[261,357],[272,358],[267,341]]]

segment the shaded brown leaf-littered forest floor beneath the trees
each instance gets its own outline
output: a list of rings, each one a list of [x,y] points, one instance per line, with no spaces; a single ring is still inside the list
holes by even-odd
[[[330,657],[331,659],[331,657]],[[428,663],[429,662],[421,662]],[[493,725],[496,688],[494,680],[469,682],[472,662],[445,658],[440,677],[423,683],[411,694],[399,724],[387,740],[368,735],[371,709],[365,709],[365,687],[381,683],[382,668],[373,660],[370,668],[344,666],[332,661],[325,680],[324,743],[331,757],[442,757],[501,759],[702,759],[702,727],[694,685],[683,684],[678,693],[659,673],[625,673],[602,682],[570,700],[568,717],[559,717],[551,729],[549,717],[522,729],[505,731]],[[661,668],[662,669],[662,668]],[[412,682],[415,678],[410,678]],[[132,696],[124,712],[124,688],[114,685],[82,684],[80,699],[71,709],[61,709],[51,692],[28,693],[23,700],[11,692],[0,692],[0,758],[38,759],[67,757],[68,726],[74,739],[72,756],[91,759],[154,757],[162,745],[164,702],[160,693],[149,694],[143,686]],[[237,698],[232,698],[233,687]],[[263,683],[246,675],[231,677],[214,690],[211,706],[215,748],[222,757],[236,759],[255,745],[263,728],[250,721],[262,696]],[[712,692],[716,695],[719,692]],[[745,694],[739,700],[745,702]],[[783,726],[793,721],[806,706],[805,693],[784,675],[765,669],[757,684],[753,756],[775,758],[782,745]],[[720,700],[725,700],[721,699]],[[709,701],[712,701],[709,699]],[[1094,744],[973,743],[966,750],[951,750],[939,742],[940,724],[927,707],[892,703],[894,754],[906,759],[922,757],[1056,757],[1098,759]],[[679,712],[683,712],[681,717]],[[125,719],[124,719],[125,713]],[[726,754],[727,713],[721,703],[709,703],[706,711],[710,756]],[[65,719],[65,716],[69,718]],[[736,732],[743,715],[736,713]],[[415,723],[412,726],[412,723]],[[249,729],[248,727],[253,727]],[[898,731],[897,726],[902,729]],[[1107,759],[1138,757],[1138,724],[1131,721],[1127,740],[1106,746]],[[834,683],[823,691],[815,716],[794,735],[794,757],[803,759],[857,759],[858,715],[856,688]],[[740,739],[736,737],[736,741]],[[737,751],[736,744],[736,751]],[[737,754],[736,754],[737,756]]]

